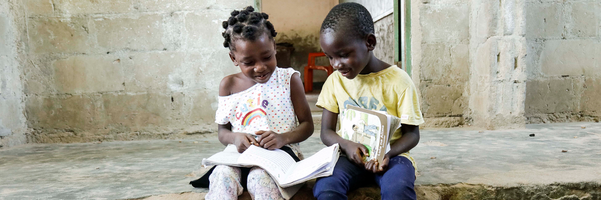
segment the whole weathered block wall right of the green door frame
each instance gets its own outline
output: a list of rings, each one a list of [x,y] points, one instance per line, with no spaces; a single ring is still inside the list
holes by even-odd
[[[424,126],[599,120],[600,1],[411,2]]]

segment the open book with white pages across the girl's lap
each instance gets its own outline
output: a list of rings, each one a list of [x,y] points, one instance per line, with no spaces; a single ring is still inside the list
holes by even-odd
[[[338,156],[338,144],[323,148],[300,162],[294,162],[285,151],[266,150],[255,145],[240,154],[236,146],[230,144],[224,151],[203,159],[203,165],[259,166],[269,173],[278,186],[289,187],[313,178],[332,175]]]

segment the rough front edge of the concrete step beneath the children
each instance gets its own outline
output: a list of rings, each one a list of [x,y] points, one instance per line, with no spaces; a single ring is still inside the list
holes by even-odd
[[[308,183],[290,200],[313,200],[312,184]],[[562,199],[583,200],[601,199],[601,184],[555,183],[549,185],[523,185],[514,187],[494,187],[481,184],[432,184],[419,185],[415,192],[420,200],[439,199]],[[153,195],[129,200],[163,200],[163,199],[204,199],[206,192],[185,192],[166,195]],[[240,200],[252,200],[248,192],[238,197]],[[349,193],[349,199],[380,199],[380,189],[377,187],[362,187]]]

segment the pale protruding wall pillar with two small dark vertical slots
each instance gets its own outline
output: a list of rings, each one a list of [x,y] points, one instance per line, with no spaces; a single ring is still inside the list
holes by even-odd
[[[469,118],[486,129],[525,127],[525,1],[472,1]]]

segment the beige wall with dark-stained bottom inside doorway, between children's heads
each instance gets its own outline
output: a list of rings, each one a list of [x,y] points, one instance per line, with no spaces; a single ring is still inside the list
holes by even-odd
[[[307,56],[311,52],[322,52],[319,45],[319,30],[328,12],[338,4],[337,0],[262,0],[261,11],[269,14],[278,36],[276,43],[291,43],[294,52],[290,57],[291,67],[301,71],[304,78],[304,67]],[[318,65],[329,65],[326,58],[318,59]],[[313,82],[325,82],[328,74],[315,70]]]

